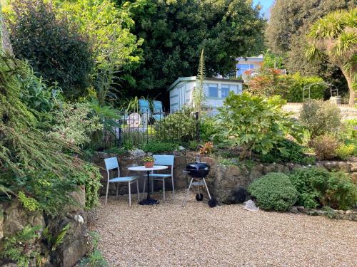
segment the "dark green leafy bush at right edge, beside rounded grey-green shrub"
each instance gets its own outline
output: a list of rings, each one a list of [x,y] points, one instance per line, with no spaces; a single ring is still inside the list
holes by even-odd
[[[306,208],[348,209],[356,204],[356,184],[342,172],[328,172],[319,167],[302,168],[289,174],[289,178],[298,190],[298,204]]]

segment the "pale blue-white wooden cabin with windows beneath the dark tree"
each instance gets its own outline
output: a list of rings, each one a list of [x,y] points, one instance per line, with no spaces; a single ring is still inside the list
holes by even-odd
[[[192,105],[193,90],[197,88],[199,80],[196,76],[180,77],[168,88],[170,95],[170,112],[180,110],[183,105]],[[205,78],[203,91],[206,96],[203,108],[212,115],[221,108],[223,100],[232,91],[241,94],[243,90],[243,80],[228,80],[222,78]]]

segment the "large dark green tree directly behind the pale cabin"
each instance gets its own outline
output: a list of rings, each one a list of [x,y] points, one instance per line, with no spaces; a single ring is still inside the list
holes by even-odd
[[[117,1],[122,4],[124,1]],[[260,53],[264,20],[245,0],[148,0],[129,9],[133,33],[143,38],[144,63],[133,76],[136,90],[166,92],[178,76],[196,73],[202,49],[206,75],[226,75],[237,56]]]

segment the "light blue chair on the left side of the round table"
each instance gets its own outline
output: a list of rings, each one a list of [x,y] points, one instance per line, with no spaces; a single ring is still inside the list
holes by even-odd
[[[116,184],[116,197],[118,197],[119,183],[121,183],[121,182],[128,183],[129,206],[131,206],[131,184],[134,184],[135,182],[136,182],[136,190],[137,190],[137,194],[138,194],[138,200],[140,200],[138,177],[134,177],[134,176],[120,177],[119,163],[118,163],[118,159],[116,159],[116,157],[110,157],[109,159],[104,159],[104,162],[106,164],[106,173],[108,174],[108,182],[106,184],[106,201],[108,200],[109,183],[117,183]],[[111,171],[112,169],[117,169],[118,177],[114,177],[114,178],[110,177],[109,171]]]

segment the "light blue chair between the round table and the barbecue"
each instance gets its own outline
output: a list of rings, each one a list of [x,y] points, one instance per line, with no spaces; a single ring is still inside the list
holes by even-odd
[[[164,200],[165,200],[165,179],[171,177],[171,182],[172,182],[172,193],[175,194],[175,186],[174,186],[174,161],[175,161],[175,156],[171,155],[153,155],[155,162],[155,165],[164,165],[164,166],[169,166],[171,167],[171,174],[161,174],[161,173],[152,173],[149,175],[151,177],[151,192],[154,191],[154,180],[155,181],[162,181],[162,187],[163,187],[163,192],[164,192]],[[149,187],[149,184],[148,184]],[[145,184],[144,184],[145,188]],[[149,189],[148,189],[149,190]]]

